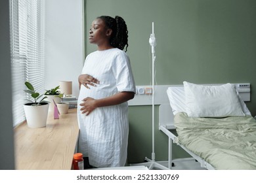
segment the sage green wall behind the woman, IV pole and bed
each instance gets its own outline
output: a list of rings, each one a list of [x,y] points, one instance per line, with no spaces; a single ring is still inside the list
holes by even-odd
[[[249,82],[256,115],[256,1],[255,0],[85,0],[85,52],[91,22],[100,15],[122,16],[129,29],[128,52],[137,85],[151,84],[154,22],[156,83],[198,84]],[[156,107],[156,111],[158,107]],[[151,107],[129,107],[128,162],[151,158]],[[158,115],[156,115],[158,123]],[[156,159],[167,159],[167,137],[156,124]],[[174,147],[174,158],[187,156]]]

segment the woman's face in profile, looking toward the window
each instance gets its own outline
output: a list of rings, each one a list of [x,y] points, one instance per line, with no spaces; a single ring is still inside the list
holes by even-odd
[[[109,42],[111,35],[110,31],[111,29],[106,29],[104,21],[100,18],[97,18],[91,24],[89,31],[89,42],[97,45],[103,44],[106,41]]]

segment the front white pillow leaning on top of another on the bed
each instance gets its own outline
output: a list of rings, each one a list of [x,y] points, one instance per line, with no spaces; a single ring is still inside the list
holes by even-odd
[[[184,81],[186,113],[190,117],[245,116],[234,84],[203,86]]]

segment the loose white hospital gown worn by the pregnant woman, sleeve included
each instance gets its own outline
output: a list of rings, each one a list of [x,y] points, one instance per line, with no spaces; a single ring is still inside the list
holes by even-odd
[[[79,104],[85,97],[101,99],[117,92],[136,92],[129,57],[118,48],[96,51],[85,59],[82,74],[88,74],[100,84],[81,85],[77,117],[80,134],[78,152],[89,157],[94,167],[124,166],[127,158],[128,143],[128,105],[98,107],[91,114],[81,114]]]

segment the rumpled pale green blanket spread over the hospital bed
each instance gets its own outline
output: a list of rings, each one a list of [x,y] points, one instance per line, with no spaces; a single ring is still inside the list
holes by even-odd
[[[189,118],[175,115],[176,143],[215,169],[256,169],[256,120],[252,116]]]

